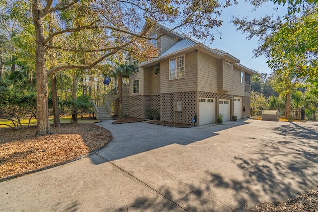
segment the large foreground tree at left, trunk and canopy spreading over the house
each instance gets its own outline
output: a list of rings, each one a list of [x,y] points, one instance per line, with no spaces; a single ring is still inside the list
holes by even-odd
[[[29,4],[28,4],[29,3]],[[26,16],[33,18],[36,49],[37,135],[51,134],[48,118],[48,78],[57,71],[67,69],[87,70],[104,59],[127,51],[147,60],[156,56],[156,49],[147,37],[157,22],[172,30],[199,39],[213,40],[210,32],[222,24],[221,10],[236,0],[12,0],[7,2],[10,12],[19,13],[19,5],[30,5],[29,13],[16,15],[21,22]],[[49,27],[55,15],[58,27]],[[145,24],[147,27],[141,31]],[[71,34],[80,32],[80,36]],[[161,35],[163,36],[163,34]],[[157,39],[160,36],[157,37]],[[54,39],[54,44],[52,40]],[[85,42],[83,42],[85,40]],[[96,42],[98,41],[98,42]],[[78,45],[86,43],[90,45]],[[48,50],[57,51],[61,57],[58,65],[48,60]],[[72,52],[73,54],[64,54]],[[89,63],[74,62],[78,53],[93,55]],[[65,56],[68,55],[69,60]]]

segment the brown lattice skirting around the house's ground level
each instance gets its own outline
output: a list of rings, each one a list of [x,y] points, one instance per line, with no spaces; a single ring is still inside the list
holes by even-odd
[[[196,98],[198,95],[198,98]],[[237,96],[242,98],[242,108],[245,107],[242,118],[250,116],[250,97]],[[123,97],[123,115],[128,114],[134,118],[149,118],[148,111],[156,109],[160,111],[161,121],[193,124],[192,119],[199,110],[199,98],[229,99],[231,101],[231,116],[234,112],[234,95],[209,92],[180,92],[165,93],[156,96],[126,96]],[[182,102],[182,111],[174,112],[173,103]],[[115,103],[115,113],[119,107]]]

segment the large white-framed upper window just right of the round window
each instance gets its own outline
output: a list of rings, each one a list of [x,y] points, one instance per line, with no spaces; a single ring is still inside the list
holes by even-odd
[[[169,80],[184,78],[184,55],[169,60]]]

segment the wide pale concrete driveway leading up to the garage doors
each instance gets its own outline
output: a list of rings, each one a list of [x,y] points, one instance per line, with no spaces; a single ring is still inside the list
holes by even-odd
[[[0,211],[246,211],[318,186],[318,122],[97,125],[113,141],[0,183]]]

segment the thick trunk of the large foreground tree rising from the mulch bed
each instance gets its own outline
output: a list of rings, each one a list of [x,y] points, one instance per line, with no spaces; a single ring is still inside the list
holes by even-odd
[[[46,47],[44,45],[44,17],[41,12],[41,2],[33,0],[32,14],[35,27],[36,38],[36,104],[37,104],[37,122],[36,135],[52,134],[49,123],[49,105],[48,105],[48,73],[46,70]]]

